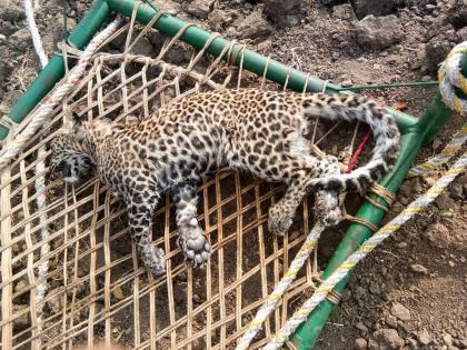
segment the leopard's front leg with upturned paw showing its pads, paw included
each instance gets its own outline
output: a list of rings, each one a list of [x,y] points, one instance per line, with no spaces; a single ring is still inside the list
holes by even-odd
[[[211,246],[197,220],[196,186],[190,182],[179,183],[172,188],[171,194],[177,209],[178,246],[193,267],[202,267],[208,262]]]

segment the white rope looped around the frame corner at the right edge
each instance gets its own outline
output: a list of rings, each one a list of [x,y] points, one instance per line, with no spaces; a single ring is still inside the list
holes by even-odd
[[[467,100],[458,98],[455,91],[455,87],[457,87],[467,93],[467,78],[463,76],[460,68],[463,54],[467,54],[467,41],[454,47],[441,63],[438,78],[439,91],[446,106],[460,114],[467,114]]]

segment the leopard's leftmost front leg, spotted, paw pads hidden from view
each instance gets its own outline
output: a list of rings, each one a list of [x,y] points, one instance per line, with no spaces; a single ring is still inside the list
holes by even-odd
[[[166,272],[163,250],[155,246],[151,234],[152,214],[158,200],[159,196],[153,194],[143,198],[141,193],[135,193],[126,198],[131,238],[142,263],[155,276],[161,276]]]

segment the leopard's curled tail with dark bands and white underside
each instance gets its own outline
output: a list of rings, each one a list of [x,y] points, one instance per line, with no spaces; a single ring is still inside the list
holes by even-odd
[[[310,187],[325,190],[364,190],[378,181],[389,170],[399,153],[400,133],[393,116],[365,97],[350,94],[316,93],[304,98],[306,117],[321,117],[329,120],[362,121],[375,138],[375,148],[368,163],[351,173],[325,176],[310,180]]]

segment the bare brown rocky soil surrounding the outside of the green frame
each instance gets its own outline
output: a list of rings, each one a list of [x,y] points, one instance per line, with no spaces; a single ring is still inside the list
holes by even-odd
[[[351,4],[279,1],[276,12],[271,10],[274,2],[195,0],[156,1],[156,6],[284,63],[346,86],[436,80],[435,62],[455,43],[467,40],[467,20],[459,17],[467,8],[463,0],[387,1],[393,6],[384,9],[377,0]],[[69,1],[69,28],[90,3]],[[17,0],[0,4],[0,80],[4,82],[0,87],[0,113],[8,112],[39,70],[21,8]],[[39,0],[36,10],[49,54],[62,38],[61,8],[61,1]],[[375,16],[396,16],[396,20],[389,19],[396,21],[389,33],[381,34],[391,37],[398,28],[398,36],[393,36],[389,44],[358,38],[356,23],[371,11]],[[408,112],[420,116],[436,88],[362,93],[388,106],[406,103]],[[454,116],[419,152],[417,161],[440,151],[463,122],[460,116]],[[406,180],[388,218],[424,192],[437,176]],[[316,349],[467,349],[466,197],[464,174],[426,212],[357,267]]]

